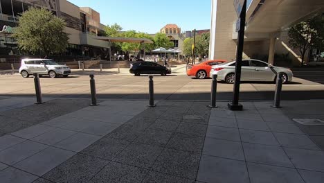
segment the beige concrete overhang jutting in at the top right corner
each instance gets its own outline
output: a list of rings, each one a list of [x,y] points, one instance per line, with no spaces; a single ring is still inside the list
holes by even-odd
[[[324,0],[253,0],[246,33],[276,33],[324,12]]]

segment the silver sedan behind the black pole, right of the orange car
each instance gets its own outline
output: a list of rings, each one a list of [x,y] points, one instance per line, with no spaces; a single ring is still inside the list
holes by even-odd
[[[271,71],[267,62],[261,60],[242,60],[242,81],[276,81],[276,74]],[[282,73],[282,82],[289,82],[293,78],[293,73],[284,67],[275,67],[277,73]],[[227,83],[235,81],[235,61],[218,64],[210,70],[210,76],[217,74],[218,80]]]

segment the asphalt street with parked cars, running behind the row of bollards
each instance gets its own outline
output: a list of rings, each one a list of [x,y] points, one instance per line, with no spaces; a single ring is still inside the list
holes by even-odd
[[[73,71],[69,78],[40,78],[42,94],[55,98],[90,98],[89,73],[93,72]],[[94,73],[98,100],[148,98],[147,76],[132,76],[127,73],[127,69],[119,74],[116,71]],[[324,99],[324,73],[321,73],[322,78],[316,78],[318,73],[295,71],[295,76],[299,78],[283,85],[282,100]],[[310,76],[311,74],[313,75]],[[312,78],[316,80],[312,81]],[[210,84],[210,79],[190,78],[183,70],[178,69],[171,76],[154,76],[154,97],[156,100],[210,100]],[[35,96],[33,78],[21,78],[19,74],[1,75],[0,86],[0,96]],[[273,100],[275,87],[273,82],[244,82],[240,87],[240,100]],[[218,82],[217,100],[231,101],[232,96],[233,85]]]

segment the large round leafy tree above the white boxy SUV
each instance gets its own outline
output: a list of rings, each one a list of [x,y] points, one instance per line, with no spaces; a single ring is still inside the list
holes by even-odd
[[[40,51],[45,58],[51,53],[66,51],[69,37],[65,22],[45,8],[29,8],[19,17],[14,37],[19,48],[31,53]]]

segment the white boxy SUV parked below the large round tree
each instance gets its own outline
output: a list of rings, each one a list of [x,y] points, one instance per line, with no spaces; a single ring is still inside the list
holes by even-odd
[[[57,64],[51,59],[23,59],[19,73],[24,78],[28,78],[33,73],[39,73],[39,76],[48,75],[51,78],[56,76],[66,78],[71,73],[71,69],[66,65]]]

